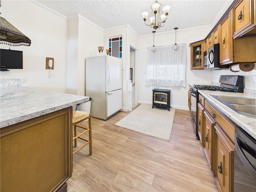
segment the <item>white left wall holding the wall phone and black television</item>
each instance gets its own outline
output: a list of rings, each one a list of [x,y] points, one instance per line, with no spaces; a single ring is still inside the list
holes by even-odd
[[[23,87],[66,92],[67,20],[28,1],[1,1],[1,17],[18,28],[31,46],[11,46],[23,51],[23,69],[0,72],[1,78],[27,78]],[[1,44],[2,49],[9,46]],[[46,57],[54,58],[52,77],[48,78]]]

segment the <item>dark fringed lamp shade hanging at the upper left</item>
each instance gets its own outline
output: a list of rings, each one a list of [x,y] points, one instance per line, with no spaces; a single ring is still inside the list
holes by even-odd
[[[31,40],[5,18],[0,17],[0,44],[30,46]]]

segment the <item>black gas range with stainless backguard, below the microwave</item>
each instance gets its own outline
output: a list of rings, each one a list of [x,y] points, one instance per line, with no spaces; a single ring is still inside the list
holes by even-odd
[[[192,114],[193,126],[196,131],[196,139],[200,140],[197,128],[197,104],[198,90],[224,91],[224,92],[244,92],[244,78],[238,75],[221,75],[219,80],[220,86],[207,84],[189,84],[190,91],[190,111]]]

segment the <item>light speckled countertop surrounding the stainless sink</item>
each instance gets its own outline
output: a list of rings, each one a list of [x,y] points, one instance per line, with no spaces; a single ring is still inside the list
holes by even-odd
[[[234,92],[220,92],[220,91],[208,91],[208,90],[198,90],[198,92],[204,96],[213,106],[220,110],[226,117],[244,129],[248,134],[256,139],[256,118],[242,116],[232,109],[228,108],[218,100],[212,98],[210,95],[218,96],[234,96],[243,98],[256,98],[255,95],[244,93],[234,93]]]

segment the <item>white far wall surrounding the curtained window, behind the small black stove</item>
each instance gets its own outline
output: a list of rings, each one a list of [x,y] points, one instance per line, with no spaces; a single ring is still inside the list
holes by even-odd
[[[157,30],[161,30],[157,29]],[[211,28],[179,31],[176,32],[177,44],[186,44],[186,87],[179,86],[146,86],[146,56],[147,47],[153,46],[153,33],[151,36],[139,38],[139,88],[138,103],[152,104],[152,89],[162,88],[171,90],[170,104],[173,108],[188,110],[188,84],[189,83],[211,83],[212,72],[206,70],[190,70],[190,47],[189,44],[202,40],[210,32]],[[175,31],[169,34],[155,33],[155,46],[169,45],[175,43]]]

